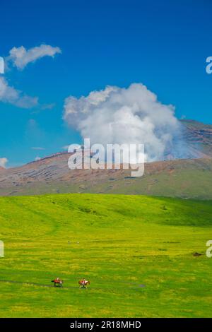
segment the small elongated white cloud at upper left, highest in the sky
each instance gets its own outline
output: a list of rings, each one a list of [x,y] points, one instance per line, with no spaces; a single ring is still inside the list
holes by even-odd
[[[40,45],[31,49],[25,49],[23,46],[13,47],[7,61],[12,61],[18,69],[24,69],[30,62],[35,62],[42,57],[54,57],[57,53],[61,53],[61,49],[51,45]]]

